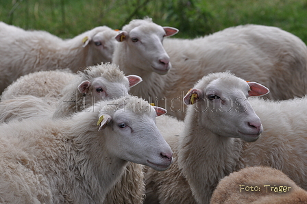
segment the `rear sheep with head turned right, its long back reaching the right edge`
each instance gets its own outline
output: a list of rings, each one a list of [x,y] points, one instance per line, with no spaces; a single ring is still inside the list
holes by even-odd
[[[125,74],[146,81],[132,88],[132,94],[167,108],[180,120],[186,114],[184,92],[208,73],[231,71],[258,81],[271,90],[269,99],[307,93],[307,48],[293,34],[277,27],[241,25],[193,40],[163,40],[175,33],[177,29],[156,25],[151,18],[133,20],[116,36],[112,62]],[[284,84],[287,88],[281,89]]]

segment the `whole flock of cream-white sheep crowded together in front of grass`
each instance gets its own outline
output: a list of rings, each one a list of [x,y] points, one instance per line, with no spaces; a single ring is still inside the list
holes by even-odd
[[[178,31],[0,22],[0,203],[307,203],[306,44]]]

